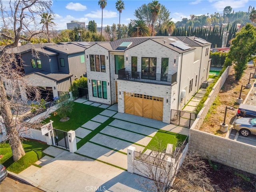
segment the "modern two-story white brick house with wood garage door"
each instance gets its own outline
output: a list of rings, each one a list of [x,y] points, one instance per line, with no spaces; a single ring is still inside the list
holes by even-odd
[[[210,45],[168,36],[94,43],[85,50],[89,99],[170,123],[170,110],[182,109],[207,80]]]

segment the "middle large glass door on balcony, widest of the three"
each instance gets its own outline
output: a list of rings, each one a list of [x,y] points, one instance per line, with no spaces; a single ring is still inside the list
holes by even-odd
[[[156,58],[142,57],[142,78],[156,80]]]

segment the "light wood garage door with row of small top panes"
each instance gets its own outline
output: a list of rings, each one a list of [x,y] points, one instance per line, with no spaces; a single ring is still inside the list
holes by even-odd
[[[124,112],[162,121],[164,98],[124,92]]]

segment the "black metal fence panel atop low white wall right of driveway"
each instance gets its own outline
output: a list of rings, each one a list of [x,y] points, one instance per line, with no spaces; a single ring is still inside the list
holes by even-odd
[[[163,169],[166,168],[166,160],[142,152],[134,151],[134,159]]]

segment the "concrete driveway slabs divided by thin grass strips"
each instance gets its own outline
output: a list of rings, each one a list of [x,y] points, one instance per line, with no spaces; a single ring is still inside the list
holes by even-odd
[[[159,129],[188,135],[189,129],[166,124],[157,120],[122,114],[117,105],[112,106],[78,99],[76,102],[90,104],[105,110],[76,129],[79,142],[108,118],[114,120],[80,147],[75,154],[50,146],[45,156],[36,164],[19,174],[34,186],[46,191],[147,191],[142,185],[149,180],[127,169],[127,148],[142,151]],[[53,157],[54,158],[53,158]]]

